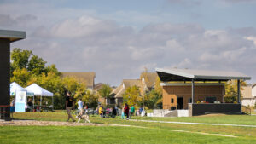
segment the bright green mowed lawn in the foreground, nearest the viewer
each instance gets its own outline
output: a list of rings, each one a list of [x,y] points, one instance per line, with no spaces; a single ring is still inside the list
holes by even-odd
[[[253,143],[253,140],[113,126],[4,126],[0,142],[9,143]]]

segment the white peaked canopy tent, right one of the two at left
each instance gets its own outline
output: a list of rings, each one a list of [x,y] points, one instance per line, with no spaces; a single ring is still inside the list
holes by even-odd
[[[42,96],[51,96],[52,97],[52,107],[54,105],[53,93],[48,90],[40,87],[38,84],[31,84],[25,88],[28,91],[32,91],[34,95],[41,96],[40,97],[40,107],[42,106]]]

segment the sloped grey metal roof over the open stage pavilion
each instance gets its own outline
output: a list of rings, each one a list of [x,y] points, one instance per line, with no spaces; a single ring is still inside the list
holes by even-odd
[[[193,69],[156,68],[161,81],[227,81],[230,79],[251,79],[241,72],[209,71]]]

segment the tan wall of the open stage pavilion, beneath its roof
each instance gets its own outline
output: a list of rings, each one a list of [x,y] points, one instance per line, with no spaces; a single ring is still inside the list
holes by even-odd
[[[178,97],[183,97],[183,109],[188,109],[191,91],[191,85],[163,86],[163,109],[167,109],[167,106],[177,107]],[[194,102],[206,101],[206,97],[210,96],[216,97],[216,101],[223,102],[224,94],[224,85],[195,85]]]

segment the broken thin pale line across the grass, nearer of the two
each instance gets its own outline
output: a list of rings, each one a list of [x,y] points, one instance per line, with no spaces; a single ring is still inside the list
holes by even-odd
[[[147,128],[147,127],[143,127],[143,126],[124,125],[124,124],[109,124],[108,126],[122,126],[122,127],[134,127],[134,128],[143,128],[143,129],[154,129],[154,128]],[[191,133],[191,134],[200,134],[200,135],[215,135],[215,136],[224,136],[224,137],[237,137],[235,135],[210,134],[210,133],[187,131],[187,130],[170,130],[170,131],[182,132],[182,133]]]

